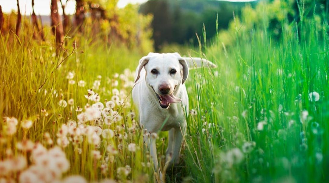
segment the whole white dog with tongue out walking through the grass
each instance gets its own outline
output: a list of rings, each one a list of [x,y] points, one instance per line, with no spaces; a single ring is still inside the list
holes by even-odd
[[[178,53],[149,53],[139,60],[132,96],[139,109],[139,122],[148,132],[169,130],[166,161],[179,163],[179,153],[186,130],[189,97],[185,81],[189,68],[216,67],[206,59],[181,57]],[[144,139],[146,142],[147,139]],[[147,142],[155,171],[159,169],[155,139]]]

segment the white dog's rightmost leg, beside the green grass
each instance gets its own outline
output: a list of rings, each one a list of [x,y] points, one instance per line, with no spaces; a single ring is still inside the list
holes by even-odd
[[[183,121],[179,127],[176,127],[174,130],[174,149],[172,153],[172,159],[170,160],[171,164],[178,164],[179,163],[179,153],[181,151],[183,138],[186,131],[186,121]]]

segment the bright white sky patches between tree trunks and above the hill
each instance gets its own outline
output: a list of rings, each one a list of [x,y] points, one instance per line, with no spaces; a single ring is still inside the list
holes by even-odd
[[[37,15],[49,15],[50,14],[50,1],[51,0],[34,0],[34,11]],[[117,6],[119,8],[125,7],[127,4],[132,3],[143,3],[147,0],[119,0]],[[241,2],[241,1],[253,1],[253,0],[228,0],[232,2]],[[19,0],[19,8],[22,15],[32,14],[32,0]],[[10,13],[12,10],[17,11],[17,2],[16,0],[0,0],[0,5],[4,13]],[[60,5],[60,4],[59,4]],[[62,8],[58,9],[60,14],[63,13]],[[75,12],[75,0],[68,0],[65,13],[73,14]]]

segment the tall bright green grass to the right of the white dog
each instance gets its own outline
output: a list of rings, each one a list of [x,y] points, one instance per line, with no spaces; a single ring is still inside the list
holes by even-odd
[[[184,151],[193,181],[328,180],[329,27],[314,17],[283,22],[278,39],[266,26],[235,22],[233,45],[215,39],[204,48],[218,68],[187,83],[198,112]]]

